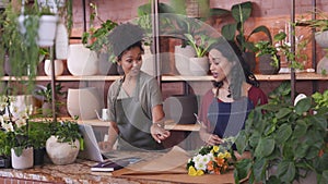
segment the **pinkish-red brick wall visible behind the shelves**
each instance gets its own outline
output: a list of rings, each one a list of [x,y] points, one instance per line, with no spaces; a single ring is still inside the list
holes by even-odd
[[[244,2],[246,0],[210,0],[211,8],[222,8],[230,10],[233,4]],[[98,7],[98,13],[102,20],[110,19],[115,22],[122,23],[130,21],[131,19],[137,17],[137,8],[143,3],[149,2],[149,0],[85,0],[86,2],[86,25],[89,26],[89,15],[90,15],[90,8],[89,3],[93,2]],[[169,0],[161,0],[161,2],[169,3]],[[285,23],[291,20],[291,1],[289,0],[253,0],[254,11],[251,17],[247,20],[245,24],[245,32],[249,34],[256,26],[258,25],[266,25],[271,29],[271,34],[274,35],[279,32],[279,29],[285,29]],[[73,32],[72,36],[81,36],[83,33],[83,9],[81,1],[73,1]],[[328,1],[327,0],[317,0],[317,8],[328,12]],[[301,19],[301,16],[306,15],[307,19],[311,16],[308,15],[308,11],[312,10],[312,0],[296,0],[295,3],[295,12],[296,12],[296,20]],[[233,21],[231,17],[220,17],[220,19],[210,19],[208,20],[208,24],[214,27],[219,33],[221,27]],[[95,26],[99,26],[99,22],[95,21]],[[309,29],[305,27],[296,27],[296,36],[308,36]],[[266,39],[263,35],[257,34],[251,37],[251,40],[259,40]],[[169,41],[168,46],[165,44],[166,49],[168,52],[173,52],[174,46],[176,45],[176,40]],[[311,54],[311,45],[306,48],[306,53],[308,54],[308,61],[306,62],[306,68],[311,68],[312,63],[312,54]],[[325,52],[318,47],[317,50],[317,60],[320,60]],[[174,61],[169,61],[171,63]],[[172,74],[175,74],[176,71],[171,71]],[[268,94],[272,90],[272,87],[278,86],[280,83],[266,83],[262,82],[261,86],[263,90]],[[318,83],[319,89],[324,90],[326,87],[325,83]],[[70,86],[71,84],[65,84]],[[72,84],[73,85],[73,84]],[[196,89],[197,94],[203,94],[206,89],[210,88],[210,83],[196,83],[192,84],[192,88]],[[272,86],[273,85],[273,86]],[[304,87],[311,86],[311,82],[302,82],[297,83],[297,91],[300,93],[312,93],[312,87]],[[109,85],[106,85],[106,89],[104,89],[104,96],[106,96],[106,90]],[[163,95],[164,98],[184,93],[184,85],[181,83],[164,83],[162,84]]]

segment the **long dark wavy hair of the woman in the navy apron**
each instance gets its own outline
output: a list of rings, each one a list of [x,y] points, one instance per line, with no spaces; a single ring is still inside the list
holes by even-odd
[[[238,61],[239,64],[235,64],[231,70],[231,84],[230,90],[233,99],[238,99],[242,96],[242,84],[246,82],[253,86],[259,87],[259,82],[256,79],[254,73],[250,71],[249,65],[242,57],[243,53],[238,46],[234,41],[227,41],[225,39],[219,39],[219,41],[211,46],[210,49],[219,50],[227,61]],[[213,81],[214,87],[222,87],[223,82]]]

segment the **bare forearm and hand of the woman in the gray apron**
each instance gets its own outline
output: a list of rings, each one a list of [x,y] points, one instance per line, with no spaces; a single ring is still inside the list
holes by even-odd
[[[163,111],[163,106],[157,105],[153,107],[152,109],[152,119],[153,119],[153,124],[151,126],[151,134],[152,137],[157,142],[162,143],[162,140],[166,139],[171,133],[166,130],[164,130],[164,122],[163,119],[165,116],[165,113]]]

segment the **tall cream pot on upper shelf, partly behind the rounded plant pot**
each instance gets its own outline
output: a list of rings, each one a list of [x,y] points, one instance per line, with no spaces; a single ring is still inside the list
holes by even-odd
[[[175,46],[174,58],[175,58],[175,68],[180,75],[191,75],[189,69],[189,58],[194,58],[196,51],[191,46],[181,48],[181,46]]]

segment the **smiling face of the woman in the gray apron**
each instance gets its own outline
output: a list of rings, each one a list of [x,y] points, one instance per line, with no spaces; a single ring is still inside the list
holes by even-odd
[[[122,53],[121,60],[118,61],[118,64],[121,65],[127,76],[133,77],[139,74],[142,64],[141,56],[142,50],[137,46]]]

